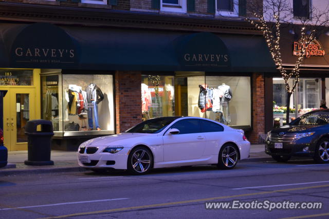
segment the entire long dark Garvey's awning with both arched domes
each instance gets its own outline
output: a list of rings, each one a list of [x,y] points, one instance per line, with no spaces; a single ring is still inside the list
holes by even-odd
[[[0,25],[10,68],[276,72],[262,36],[160,30]],[[2,55],[4,56],[2,58]]]

